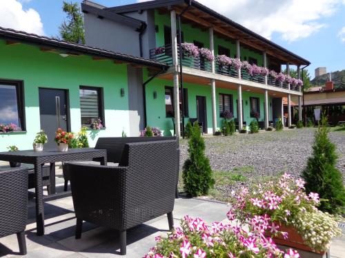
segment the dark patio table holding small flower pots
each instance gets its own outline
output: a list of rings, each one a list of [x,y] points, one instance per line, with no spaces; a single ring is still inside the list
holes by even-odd
[[[60,151],[6,151],[0,152],[0,160],[34,164],[36,178],[36,224],[37,235],[44,235],[44,207],[43,207],[43,187],[42,187],[42,166],[50,163],[50,182],[52,195],[55,193],[55,162],[66,162],[74,160],[89,161],[97,158],[101,165],[106,165],[105,149],[69,149],[66,152]],[[66,195],[66,193],[63,193]],[[51,195],[49,195],[51,197]],[[65,197],[59,195],[61,197]]]

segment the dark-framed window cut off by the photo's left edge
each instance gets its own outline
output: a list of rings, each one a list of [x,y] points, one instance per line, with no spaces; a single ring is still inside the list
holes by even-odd
[[[0,80],[0,124],[17,126],[15,131],[25,131],[23,83]]]

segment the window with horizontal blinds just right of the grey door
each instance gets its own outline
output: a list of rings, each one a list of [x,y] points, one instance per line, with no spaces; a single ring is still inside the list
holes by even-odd
[[[103,89],[99,87],[79,88],[81,125],[90,127],[95,120],[101,119],[103,127],[104,108],[103,108]]]

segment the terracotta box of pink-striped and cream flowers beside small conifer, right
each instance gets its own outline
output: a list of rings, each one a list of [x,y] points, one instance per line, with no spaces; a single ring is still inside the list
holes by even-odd
[[[233,192],[230,212],[242,223],[263,218],[267,225],[262,233],[276,244],[324,254],[331,239],[342,231],[332,215],[317,209],[319,195],[307,195],[304,184],[302,178],[287,173],[277,180],[253,184]]]

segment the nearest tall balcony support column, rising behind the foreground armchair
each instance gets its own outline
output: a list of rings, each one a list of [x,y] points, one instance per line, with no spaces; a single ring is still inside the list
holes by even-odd
[[[174,113],[175,113],[175,135],[177,138],[181,136],[181,129],[179,126],[179,71],[178,71],[178,54],[177,54],[177,30],[176,30],[176,12],[170,11],[171,21],[171,50],[172,50],[172,65],[174,67]]]

